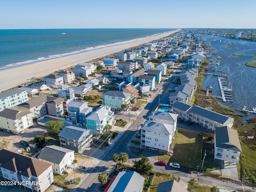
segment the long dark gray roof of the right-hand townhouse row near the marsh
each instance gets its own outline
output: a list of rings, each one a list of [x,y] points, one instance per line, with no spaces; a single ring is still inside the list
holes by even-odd
[[[200,106],[192,106],[192,108],[190,108],[189,112],[198,114],[199,116],[203,116],[208,119],[211,119],[220,124],[224,124],[229,118],[231,118],[226,115],[222,115],[220,113],[202,108]]]

